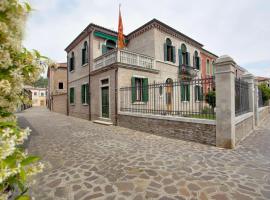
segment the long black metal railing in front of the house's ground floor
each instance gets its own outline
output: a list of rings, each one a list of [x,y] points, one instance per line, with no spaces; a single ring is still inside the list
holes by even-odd
[[[213,77],[120,88],[120,111],[215,119]]]

